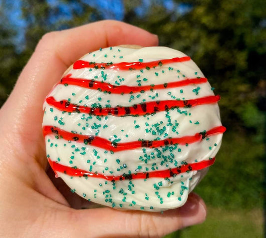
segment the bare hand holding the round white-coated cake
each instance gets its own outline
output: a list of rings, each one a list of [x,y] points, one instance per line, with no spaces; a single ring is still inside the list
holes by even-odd
[[[0,109],[0,237],[162,237],[205,220],[206,207],[196,194],[190,194],[183,207],[163,214],[74,209],[80,207],[78,199],[71,193],[63,196],[58,191],[64,191],[62,183],[53,183],[47,175],[41,127],[45,96],[79,57],[121,44],[156,46],[158,37],[105,20],[40,39]]]

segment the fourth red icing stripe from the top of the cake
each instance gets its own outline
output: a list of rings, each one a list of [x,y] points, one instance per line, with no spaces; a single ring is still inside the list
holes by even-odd
[[[226,128],[224,126],[218,126],[218,127],[212,128],[211,130],[207,132],[196,133],[194,136],[184,136],[184,137],[171,138],[171,139],[168,138],[168,139],[159,140],[159,141],[142,140],[142,141],[115,143],[115,142],[110,142],[107,139],[101,138],[99,136],[80,135],[77,133],[67,132],[67,131],[64,131],[62,129],[59,129],[53,126],[43,126],[44,136],[54,134],[55,136],[58,136],[58,138],[62,138],[67,141],[77,141],[77,142],[89,144],[89,145],[99,147],[105,150],[113,151],[113,152],[133,150],[133,149],[141,148],[141,147],[157,148],[157,147],[165,146],[165,145],[191,144],[191,143],[200,141],[202,138],[205,138],[207,136],[211,136],[211,135],[218,134],[218,133],[219,134],[224,133],[225,131],[226,131]]]

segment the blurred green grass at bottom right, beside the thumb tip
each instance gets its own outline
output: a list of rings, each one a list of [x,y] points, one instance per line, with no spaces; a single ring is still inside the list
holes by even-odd
[[[165,238],[263,238],[263,210],[208,208],[200,225],[172,233]]]

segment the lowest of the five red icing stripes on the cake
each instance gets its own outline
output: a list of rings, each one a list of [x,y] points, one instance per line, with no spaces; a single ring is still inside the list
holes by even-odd
[[[175,177],[178,174],[186,173],[188,171],[202,170],[204,168],[207,168],[214,164],[215,158],[197,162],[197,163],[183,164],[174,169],[152,171],[152,172],[140,172],[140,173],[134,173],[134,174],[123,174],[119,176],[104,175],[104,174],[99,174],[96,172],[88,172],[86,170],[81,170],[75,167],[68,167],[65,165],[61,165],[55,161],[51,161],[49,158],[48,158],[48,161],[55,173],[61,172],[69,176],[94,177],[94,178],[101,178],[101,179],[105,179],[109,181],[117,181],[117,180],[126,180],[126,179],[131,180],[131,179]]]

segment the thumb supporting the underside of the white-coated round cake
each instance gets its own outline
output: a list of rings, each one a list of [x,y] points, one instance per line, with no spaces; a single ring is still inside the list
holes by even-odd
[[[205,218],[206,207],[203,200],[191,193],[183,207],[163,213],[119,211],[110,208],[75,210],[63,223],[60,221],[60,229],[66,229],[69,237],[155,238],[202,223]],[[71,228],[64,227],[66,224],[71,224]]]

